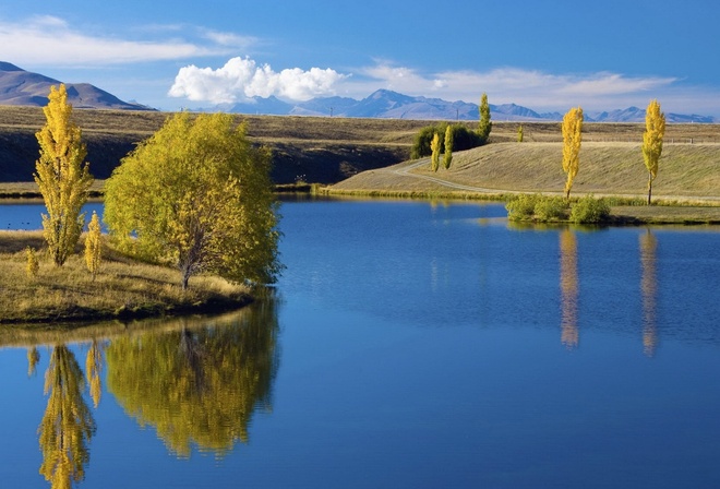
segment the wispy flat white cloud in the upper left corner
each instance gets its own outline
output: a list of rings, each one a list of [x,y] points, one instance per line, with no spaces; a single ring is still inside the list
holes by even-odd
[[[189,29],[192,31],[192,29]],[[0,59],[17,64],[108,65],[227,53],[251,39],[207,31],[205,44],[178,40],[128,40],[86,34],[56,16],[21,23],[0,20]]]

